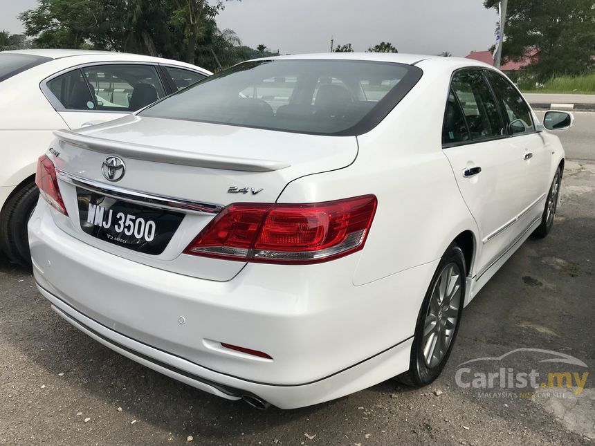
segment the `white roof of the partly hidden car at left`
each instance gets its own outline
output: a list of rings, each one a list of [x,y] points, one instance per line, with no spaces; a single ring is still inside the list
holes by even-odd
[[[201,68],[200,66],[187,64],[186,62],[180,62],[172,59],[164,59],[163,57],[152,57],[145,56],[142,54],[132,53],[117,53],[116,51],[100,51],[100,50],[63,50],[63,49],[35,49],[35,50],[11,50],[3,51],[4,54],[24,54],[38,57],[48,57],[50,59],[65,59],[66,57],[74,59],[75,57],[84,57],[88,59],[93,57],[95,62],[118,62],[118,61],[130,61],[130,62],[151,62],[153,64],[174,64],[176,66],[187,66],[194,70],[203,71],[205,74],[210,75],[210,71]]]

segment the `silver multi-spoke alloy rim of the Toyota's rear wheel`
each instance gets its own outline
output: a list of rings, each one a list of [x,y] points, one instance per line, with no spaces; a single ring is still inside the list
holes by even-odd
[[[461,269],[451,262],[434,283],[423,324],[423,358],[428,368],[439,364],[446,355],[459,322],[460,304]]]

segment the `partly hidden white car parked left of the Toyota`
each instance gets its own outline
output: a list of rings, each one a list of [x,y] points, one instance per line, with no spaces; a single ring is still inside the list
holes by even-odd
[[[210,75],[194,65],[90,50],[0,53],[0,251],[30,263],[35,165],[57,129],[121,118]]]

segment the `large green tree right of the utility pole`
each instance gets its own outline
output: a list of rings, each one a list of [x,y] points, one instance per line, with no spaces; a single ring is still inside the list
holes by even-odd
[[[497,10],[497,0],[484,0]],[[578,75],[595,66],[595,6],[593,0],[509,0],[504,59],[518,61],[538,50],[527,67],[544,81],[556,75]]]

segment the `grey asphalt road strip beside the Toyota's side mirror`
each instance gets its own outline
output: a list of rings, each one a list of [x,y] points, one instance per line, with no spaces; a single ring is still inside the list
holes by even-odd
[[[543,120],[543,111],[536,111]],[[574,127],[557,133],[567,158],[595,161],[595,112],[573,111]]]

